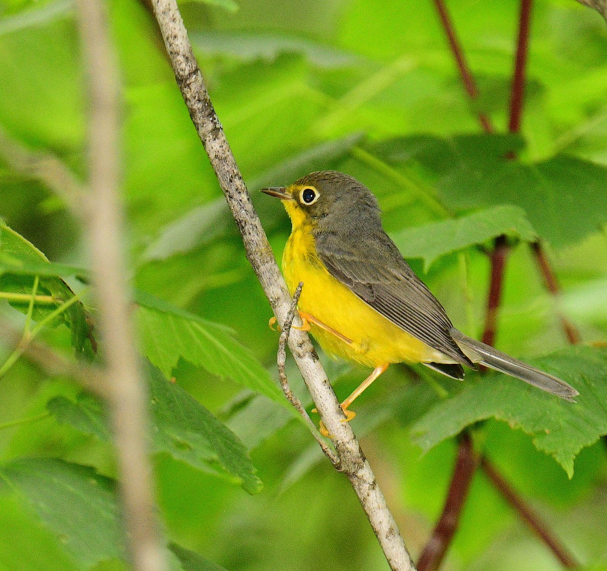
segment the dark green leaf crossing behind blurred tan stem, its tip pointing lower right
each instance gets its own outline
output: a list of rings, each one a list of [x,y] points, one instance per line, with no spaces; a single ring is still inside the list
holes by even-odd
[[[150,367],[149,381],[152,452],[169,453],[242,485],[249,493],[260,492],[262,483],[239,438],[189,393],[166,381],[157,369]],[[47,408],[59,422],[111,442],[106,408],[92,396],[82,394],[76,401],[57,396]]]

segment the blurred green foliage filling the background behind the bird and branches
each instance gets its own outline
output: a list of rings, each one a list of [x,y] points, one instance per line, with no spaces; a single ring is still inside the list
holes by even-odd
[[[513,138],[480,134],[476,113],[506,131],[514,0],[448,2],[480,88],[473,103],[430,0],[237,4],[189,1],[181,10],[277,258],[290,231],[287,217],[257,191],[316,169],[350,173],[376,193],[386,229],[456,326],[478,336],[489,279],[483,250],[506,232],[513,250],[497,345],[569,375],[582,393],[571,407],[512,379],[470,373],[464,384],[433,376],[450,395],[441,400],[406,367],[391,367],[361,398],[353,427],[365,435],[405,542],[414,555],[424,545],[453,468],[450,436],[473,424],[478,450],[588,569],[603,569],[605,350],[564,349],[558,313],[575,323],[585,344],[605,340],[605,22],[573,0],[535,2],[523,128]],[[138,341],[198,401],[154,373],[151,386],[161,395],[154,468],[172,566],[388,569],[346,479],[276,401],[270,307],[148,4],[108,6],[123,85],[125,248],[134,288],[143,292],[135,296]],[[89,255],[79,222],[39,170],[15,156],[25,145],[86,180],[85,74],[71,0],[0,0],[0,217],[53,262],[41,269],[21,259],[18,269],[3,232],[2,292],[30,293],[36,272],[46,276],[39,294],[55,288],[69,296],[83,287],[76,276],[86,272],[80,268]],[[504,160],[511,149],[517,161]],[[560,301],[544,289],[530,253],[535,235],[546,241],[563,286]],[[84,305],[94,321],[94,298]],[[25,313],[28,306],[15,305]],[[66,327],[73,324],[67,314],[41,332],[64,352],[74,339],[84,343],[80,306],[72,308],[80,333]],[[0,300],[0,310],[23,326],[25,316],[7,302]],[[44,315],[34,312],[33,319]],[[11,351],[0,347],[0,363]],[[331,361],[327,369],[340,397],[365,375]],[[292,364],[288,373],[309,405]],[[25,359],[0,382],[0,570],[124,569],[115,539],[114,456],[100,405]],[[214,441],[217,433],[222,440]],[[418,442],[434,447],[424,454]],[[477,473],[444,569],[559,568]]]

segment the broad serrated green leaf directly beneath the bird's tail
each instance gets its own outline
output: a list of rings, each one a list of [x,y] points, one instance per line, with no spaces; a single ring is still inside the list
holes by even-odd
[[[469,424],[493,417],[530,435],[571,478],[575,456],[607,433],[607,350],[569,347],[533,363],[571,383],[580,392],[577,403],[506,375],[477,376],[416,422],[412,432],[419,446],[430,450]]]

